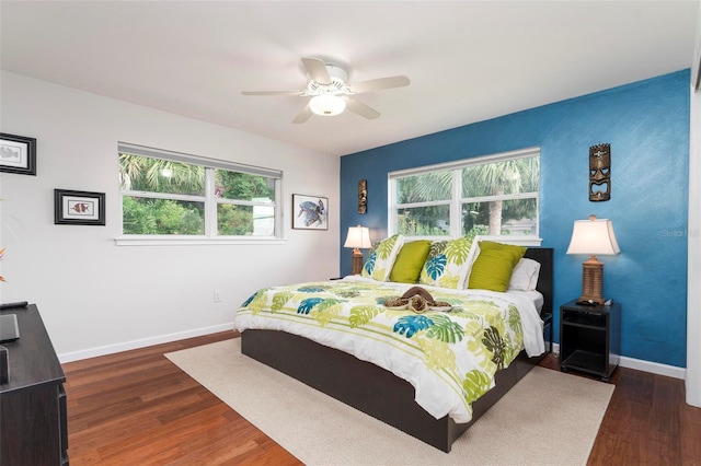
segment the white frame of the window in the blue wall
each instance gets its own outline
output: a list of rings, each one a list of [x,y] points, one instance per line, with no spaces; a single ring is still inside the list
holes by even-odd
[[[490,155],[481,155],[471,159],[463,159],[455,162],[447,162],[434,165],[424,165],[414,168],[400,170],[388,173],[388,215],[387,215],[387,230],[388,236],[398,233],[398,213],[402,208],[425,207],[425,206],[449,206],[450,211],[450,230],[447,235],[421,235],[421,236],[406,236],[412,240],[449,240],[462,236],[462,205],[472,202],[485,202],[492,200],[517,200],[517,199],[536,199],[536,233],[530,235],[480,235],[482,240],[491,241],[504,241],[508,237],[508,243],[520,244],[525,246],[540,246],[542,238],[540,237],[540,186],[542,178],[539,174],[538,191],[536,193],[519,193],[519,194],[505,194],[501,196],[474,196],[462,197],[462,168],[475,165],[483,165],[487,163],[497,163],[507,160],[527,159],[531,156],[538,156],[540,160],[541,151],[539,147],[520,149],[508,152],[501,152]],[[542,165],[539,164],[539,170]],[[422,175],[432,172],[452,172],[452,186],[451,197],[447,200],[437,201],[423,201],[414,203],[398,203],[397,202],[397,180],[399,178]]]

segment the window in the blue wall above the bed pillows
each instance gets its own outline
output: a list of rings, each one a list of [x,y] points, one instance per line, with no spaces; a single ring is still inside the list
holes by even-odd
[[[540,151],[390,173],[389,230],[406,236],[537,237]]]

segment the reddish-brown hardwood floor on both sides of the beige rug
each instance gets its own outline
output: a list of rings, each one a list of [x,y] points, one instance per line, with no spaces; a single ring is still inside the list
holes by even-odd
[[[71,465],[301,464],[163,357],[234,336],[64,364]],[[619,368],[611,383],[590,465],[701,465],[701,408],[685,404],[682,381]]]

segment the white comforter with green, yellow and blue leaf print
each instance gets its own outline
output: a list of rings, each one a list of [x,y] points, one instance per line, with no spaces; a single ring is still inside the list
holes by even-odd
[[[354,354],[409,381],[416,403],[436,419],[472,418],[471,404],[519,351],[544,351],[542,321],[522,292],[425,287],[450,312],[390,310],[409,284],[358,276],[264,288],[237,312],[234,328],[284,330]]]

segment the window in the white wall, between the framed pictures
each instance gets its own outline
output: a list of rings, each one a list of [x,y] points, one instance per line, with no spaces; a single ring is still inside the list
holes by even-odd
[[[281,172],[119,143],[122,232],[281,236]]]

